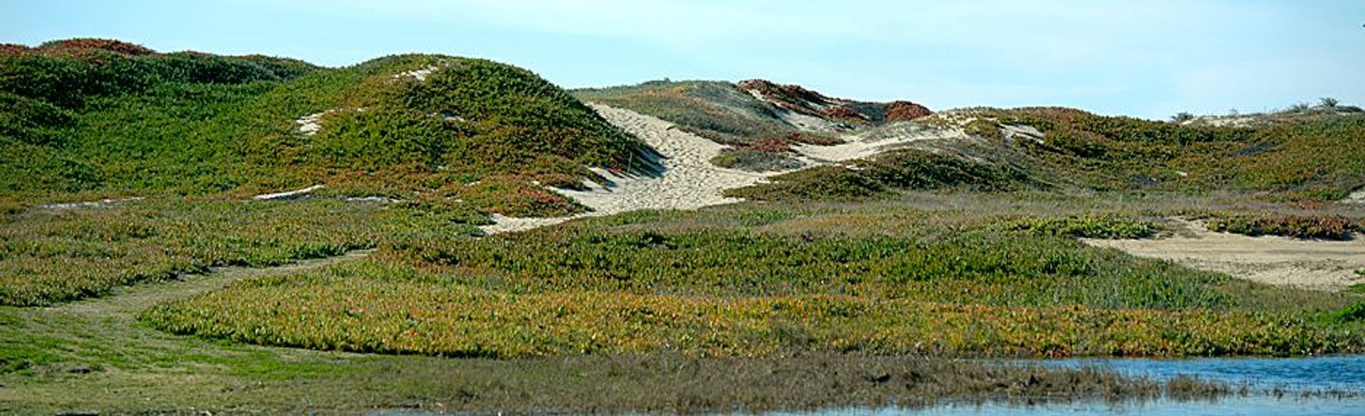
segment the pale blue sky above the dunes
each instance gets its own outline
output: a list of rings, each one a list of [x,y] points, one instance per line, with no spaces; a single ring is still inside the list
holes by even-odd
[[[1065,105],[1164,119],[1365,105],[1365,1],[0,0],[0,42],[348,65],[487,57],[566,87],[767,78],[931,108]]]

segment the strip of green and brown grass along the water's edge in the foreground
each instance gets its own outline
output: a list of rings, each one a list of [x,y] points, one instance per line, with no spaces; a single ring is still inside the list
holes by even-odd
[[[0,307],[0,412],[760,412],[983,398],[1133,400],[1162,382],[1100,368],[915,356],[674,353],[441,359],[262,348],[101,316]],[[1175,391],[1171,391],[1175,393]]]

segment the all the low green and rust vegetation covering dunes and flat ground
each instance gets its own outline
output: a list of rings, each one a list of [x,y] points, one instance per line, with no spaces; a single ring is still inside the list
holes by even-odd
[[[958,359],[1365,352],[1360,285],[1267,286],[1081,241],[1152,237],[1168,217],[1350,239],[1362,211],[1335,200],[1365,185],[1365,115],[1325,100],[1248,127],[968,109],[961,143],[728,192],[749,203],[475,228],[584,213],[550,188],[581,190],[598,169],[657,170],[580,98],[729,145],[714,162],[749,170],[841,140],[800,132],[788,110],[956,128],[910,102],[745,86],[763,97],[726,82],[571,94],[434,55],[322,68],[106,40],[3,45],[0,413],[1188,397],[1227,390]],[[895,131],[923,130],[882,134]],[[373,254],[194,276],[354,250]],[[123,292],[145,296],[111,296]]]

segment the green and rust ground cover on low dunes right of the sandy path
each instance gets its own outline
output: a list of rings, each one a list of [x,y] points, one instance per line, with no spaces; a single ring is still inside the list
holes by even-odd
[[[1061,108],[968,109],[973,140],[947,151],[898,150],[774,177],[732,191],[764,200],[867,200],[905,190],[1072,188],[1100,192],[1244,192],[1267,200],[1332,202],[1365,185],[1365,115],[1284,120],[1254,128],[1179,125]],[[934,123],[931,120],[930,123]],[[1006,140],[1002,124],[1044,138]],[[986,154],[988,157],[981,158]],[[860,177],[861,176],[861,177]],[[856,190],[848,190],[854,187]]]

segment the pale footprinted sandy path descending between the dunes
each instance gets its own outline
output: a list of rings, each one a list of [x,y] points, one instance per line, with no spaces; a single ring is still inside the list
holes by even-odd
[[[554,225],[583,217],[601,217],[635,210],[695,210],[713,205],[734,203],[741,199],[726,198],[726,190],[741,188],[763,181],[777,173],[753,173],[725,169],[711,164],[721,154],[723,145],[711,142],[681,130],[673,123],[627,109],[590,104],[602,117],[622,130],[635,134],[665,158],[661,176],[616,176],[601,170],[612,184],[603,187],[590,184],[590,191],[556,190],[565,196],[577,199],[592,209],[590,213],[560,218],[509,218],[494,216],[494,225],[482,226],[485,233],[502,233]]]

